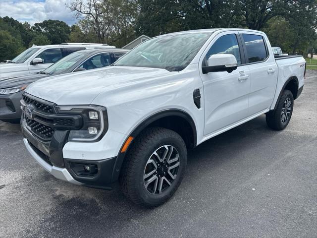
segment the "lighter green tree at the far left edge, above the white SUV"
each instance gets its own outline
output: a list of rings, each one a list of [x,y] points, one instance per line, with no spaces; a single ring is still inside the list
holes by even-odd
[[[21,41],[13,37],[10,32],[0,30],[0,61],[12,60],[24,50]]]

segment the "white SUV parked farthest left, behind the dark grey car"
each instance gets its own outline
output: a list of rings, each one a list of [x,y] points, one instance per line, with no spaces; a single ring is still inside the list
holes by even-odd
[[[13,60],[0,64],[0,80],[40,72],[69,54],[94,48],[115,48],[106,44],[62,43],[60,45],[32,46]]]

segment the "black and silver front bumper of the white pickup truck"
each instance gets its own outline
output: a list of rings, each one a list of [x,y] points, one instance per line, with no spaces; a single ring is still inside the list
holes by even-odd
[[[82,160],[67,159],[63,157],[63,147],[67,142],[68,131],[55,131],[51,141],[42,141],[37,138],[29,129],[22,115],[21,129],[24,135],[24,144],[32,157],[55,178],[68,181],[74,184],[112,189],[113,171],[116,157],[103,160]],[[79,142],[80,144],[80,142]],[[83,152],[85,153],[85,152]],[[83,168],[85,165],[96,167],[96,174],[82,176],[76,171],[78,165]]]

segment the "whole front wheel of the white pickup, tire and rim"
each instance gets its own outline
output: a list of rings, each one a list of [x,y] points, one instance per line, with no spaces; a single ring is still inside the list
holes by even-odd
[[[120,183],[124,194],[136,204],[158,206],[180,185],[187,164],[182,137],[160,127],[148,128],[133,143]]]

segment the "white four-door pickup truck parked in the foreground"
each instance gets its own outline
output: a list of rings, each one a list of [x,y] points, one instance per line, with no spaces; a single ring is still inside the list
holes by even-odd
[[[24,143],[58,179],[104,189],[119,180],[133,202],[157,206],[180,185],[187,149],[263,114],[284,129],[305,65],[275,59],[260,31],[161,35],[107,68],[29,85]]]

